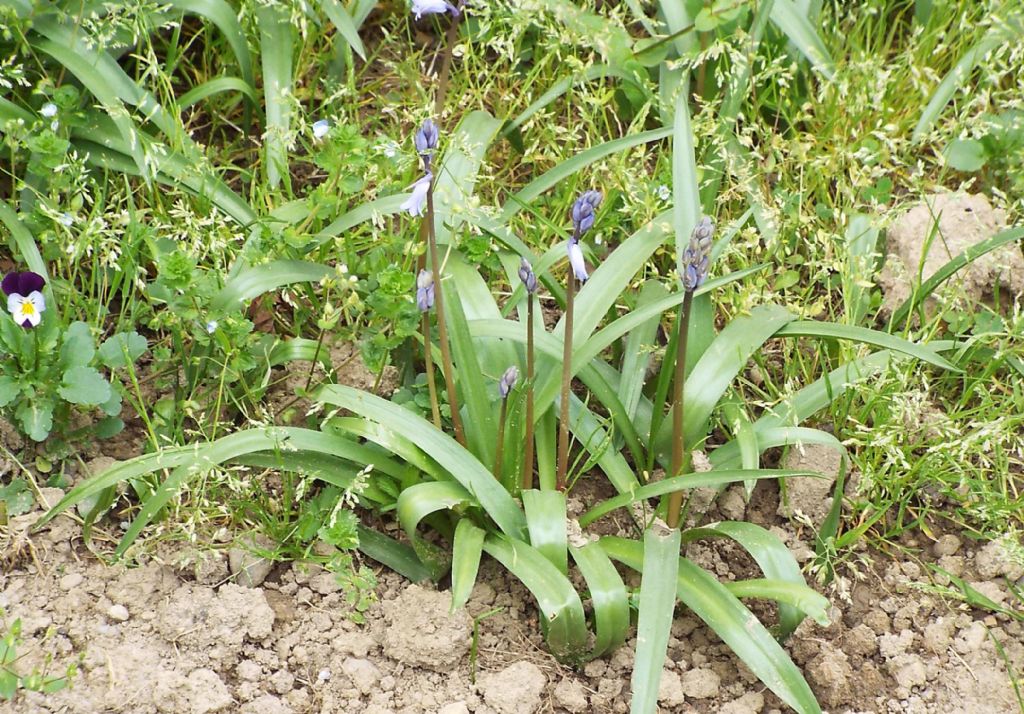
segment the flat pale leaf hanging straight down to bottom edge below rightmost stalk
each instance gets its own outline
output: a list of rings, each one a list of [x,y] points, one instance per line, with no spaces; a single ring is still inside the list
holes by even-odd
[[[645,575],[640,581],[631,714],[657,711],[657,690],[676,610],[679,540],[678,529],[648,528],[643,535],[643,565],[639,570]]]

